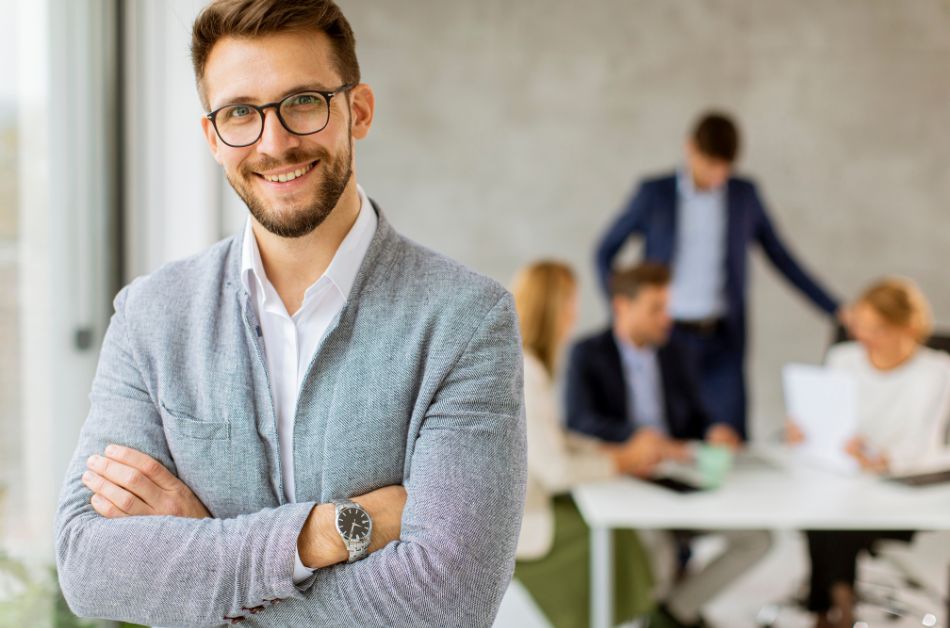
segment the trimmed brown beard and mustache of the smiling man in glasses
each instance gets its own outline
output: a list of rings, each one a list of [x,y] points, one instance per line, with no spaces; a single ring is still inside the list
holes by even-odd
[[[327,216],[333,212],[333,208],[336,207],[353,175],[352,151],[352,139],[345,153],[336,159],[332,159],[325,150],[320,150],[318,153],[294,150],[288,152],[280,161],[266,158],[253,166],[242,168],[236,176],[228,174],[228,182],[262,227],[282,238],[299,238],[323,224]],[[255,171],[276,170],[288,164],[310,164],[318,159],[320,160],[318,166],[323,168],[323,180],[309,201],[303,201],[297,206],[285,207],[278,212],[265,206],[251,189],[250,179],[258,176],[254,173]]]

